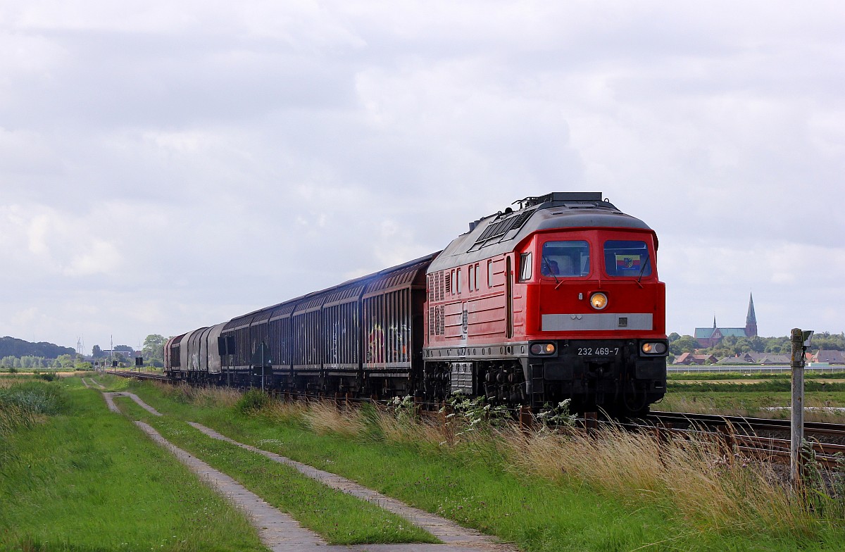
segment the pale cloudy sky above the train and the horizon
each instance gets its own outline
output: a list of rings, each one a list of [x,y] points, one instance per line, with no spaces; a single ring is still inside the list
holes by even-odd
[[[138,347],[602,191],[668,331],[845,330],[845,4],[4,0],[0,336]]]

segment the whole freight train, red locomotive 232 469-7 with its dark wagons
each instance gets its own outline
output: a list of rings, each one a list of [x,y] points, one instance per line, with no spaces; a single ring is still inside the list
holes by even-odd
[[[176,380],[642,413],[668,345],[657,235],[600,193],[470,223],[443,251],[166,344]]]

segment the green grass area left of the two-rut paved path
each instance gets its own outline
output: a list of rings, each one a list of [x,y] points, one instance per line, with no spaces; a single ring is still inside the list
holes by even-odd
[[[99,392],[79,379],[25,386],[63,406],[0,440],[0,549],[264,550],[241,512]]]

